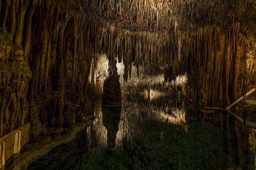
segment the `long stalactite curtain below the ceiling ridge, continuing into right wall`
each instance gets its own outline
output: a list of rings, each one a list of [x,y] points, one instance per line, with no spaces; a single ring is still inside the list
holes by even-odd
[[[118,62],[123,62],[124,81],[128,80],[134,65],[139,70],[156,64],[162,68],[175,68],[171,78],[187,72],[189,89],[192,89],[188,96],[194,103],[225,106],[230,99],[240,95],[236,93],[238,77],[244,71],[240,64],[246,60],[251,40],[250,34],[241,34],[240,23],[227,28],[206,26],[193,32],[155,33],[121,29],[102,17],[89,22],[93,23],[90,30],[97,40],[94,44],[96,53],[103,52],[108,58],[116,57]],[[155,74],[155,70],[152,71],[149,74]],[[245,86],[242,91],[246,91]]]

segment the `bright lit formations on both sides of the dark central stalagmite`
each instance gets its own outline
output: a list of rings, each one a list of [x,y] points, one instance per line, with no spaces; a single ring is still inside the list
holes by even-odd
[[[162,68],[160,68],[159,73],[150,75],[147,70],[143,67],[131,66],[131,77],[128,78],[125,82],[124,74],[124,64],[117,63],[117,73],[120,75],[120,85],[122,93],[140,93],[144,94],[145,98],[150,98],[151,100],[157,99],[159,96],[173,93],[174,91],[185,92],[185,85],[187,82],[186,73],[183,75],[178,75],[176,79],[173,79],[172,82],[165,82],[164,74]],[[100,96],[102,93],[103,82],[108,76],[108,58],[106,55],[99,55],[99,58],[96,60],[94,71],[94,80],[97,96]],[[139,78],[138,74],[139,73]]]

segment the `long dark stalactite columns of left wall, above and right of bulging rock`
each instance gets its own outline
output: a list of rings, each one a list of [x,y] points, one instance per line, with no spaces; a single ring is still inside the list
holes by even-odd
[[[90,26],[81,2],[1,0],[1,5],[0,26],[20,47],[33,73],[29,97],[46,92],[49,77],[56,74],[56,90],[71,90],[67,99],[74,103],[84,100],[76,90],[86,89],[82,86],[88,83],[93,35],[87,31]],[[80,86],[77,79],[81,87],[76,87]]]

